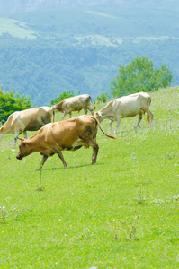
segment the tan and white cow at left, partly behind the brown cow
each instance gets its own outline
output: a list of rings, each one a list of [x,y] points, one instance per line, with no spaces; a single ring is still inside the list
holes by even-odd
[[[14,112],[8,117],[4,126],[0,128],[0,140],[5,134],[15,134],[15,146],[19,134],[23,132],[24,137],[27,138],[26,131],[39,130],[40,127],[51,122],[52,114],[54,117],[54,108],[49,107],[30,108]]]

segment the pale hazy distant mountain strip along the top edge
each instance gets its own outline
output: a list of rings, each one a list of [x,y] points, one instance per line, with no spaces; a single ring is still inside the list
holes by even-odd
[[[0,0],[0,12],[30,12],[45,9],[116,6],[159,9],[179,8],[178,0]]]

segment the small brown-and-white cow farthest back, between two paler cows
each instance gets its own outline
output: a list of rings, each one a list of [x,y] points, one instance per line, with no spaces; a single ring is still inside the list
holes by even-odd
[[[57,105],[55,105],[55,109],[59,112],[63,112],[62,120],[64,117],[69,114],[69,118],[72,117],[72,111],[80,111],[84,108],[85,114],[87,114],[87,109],[94,115],[94,109],[90,108],[90,100],[91,96],[89,94],[82,94],[75,97],[70,97],[67,99],[62,100]]]

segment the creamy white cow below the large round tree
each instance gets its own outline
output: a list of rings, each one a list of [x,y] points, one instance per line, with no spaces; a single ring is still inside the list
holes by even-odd
[[[100,122],[103,119],[110,119],[110,129],[112,131],[112,122],[117,121],[115,134],[117,135],[121,118],[123,117],[134,117],[139,115],[139,120],[137,126],[142,119],[142,114],[147,112],[147,120],[151,119],[151,124],[153,121],[153,114],[149,109],[151,103],[151,97],[147,92],[139,92],[130,94],[127,96],[122,96],[111,100],[104,108],[98,112],[94,112],[94,117],[97,117]]]

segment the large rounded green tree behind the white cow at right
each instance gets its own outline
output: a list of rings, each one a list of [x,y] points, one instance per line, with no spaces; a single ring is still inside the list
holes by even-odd
[[[157,91],[169,86],[172,81],[172,73],[166,65],[154,69],[148,57],[136,57],[126,67],[120,65],[117,76],[111,81],[112,96],[117,98],[139,91]]]

